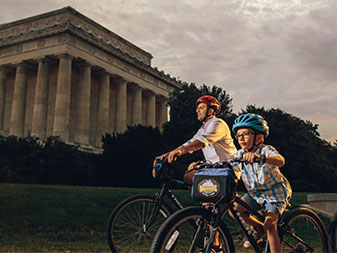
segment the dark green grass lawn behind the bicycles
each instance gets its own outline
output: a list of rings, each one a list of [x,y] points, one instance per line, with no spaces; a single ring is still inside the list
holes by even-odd
[[[0,184],[0,252],[108,252],[106,223],[114,207],[155,189]],[[187,190],[177,198],[195,205]],[[293,205],[307,203],[294,193]],[[325,222],[329,222],[325,219]]]

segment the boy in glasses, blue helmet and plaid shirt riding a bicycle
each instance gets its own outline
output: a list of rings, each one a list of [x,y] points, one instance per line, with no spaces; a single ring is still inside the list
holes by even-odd
[[[292,194],[288,180],[279,170],[285,164],[284,158],[274,147],[263,144],[269,134],[269,127],[262,116],[252,113],[241,115],[235,120],[232,130],[241,147],[234,157],[247,161],[233,164],[237,176],[241,175],[248,191],[242,199],[254,209],[265,207],[267,216],[263,230],[267,234],[270,251],[282,252],[277,221]],[[236,206],[248,224],[263,231],[262,226],[249,217],[244,207]]]

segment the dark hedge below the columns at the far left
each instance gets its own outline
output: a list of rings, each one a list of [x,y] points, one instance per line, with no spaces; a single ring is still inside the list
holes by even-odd
[[[0,182],[90,185],[93,157],[55,137],[0,136]]]

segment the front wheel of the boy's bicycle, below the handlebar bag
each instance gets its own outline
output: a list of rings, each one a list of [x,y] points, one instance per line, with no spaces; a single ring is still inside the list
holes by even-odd
[[[160,226],[151,252],[202,252],[213,218],[214,214],[202,207],[187,207],[175,212]],[[234,252],[231,234],[222,221],[218,232],[223,252]]]

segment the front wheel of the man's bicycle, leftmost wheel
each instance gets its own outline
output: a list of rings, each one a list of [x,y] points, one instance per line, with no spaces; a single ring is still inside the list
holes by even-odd
[[[162,203],[152,225],[155,196],[136,195],[122,201],[111,213],[107,225],[107,239],[112,252],[149,252],[154,234],[172,213]]]

